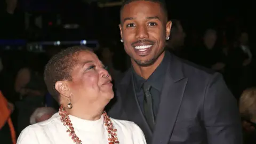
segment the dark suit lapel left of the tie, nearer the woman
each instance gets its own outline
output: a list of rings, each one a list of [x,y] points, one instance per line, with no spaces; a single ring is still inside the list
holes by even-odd
[[[122,87],[127,87],[127,89],[123,89],[122,94],[124,96],[124,111],[127,116],[128,121],[132,121],[135,124],[140,126],[140,129],[145,134],[145,137],[148,141],[151,141],[152,132],[150,130],[150,127],[148,126],[148,123],[140,109],[139,103],[137,101],[135,90],[133,88],[133,80],[132,75],[127,78],[128,85],[123,85]]]

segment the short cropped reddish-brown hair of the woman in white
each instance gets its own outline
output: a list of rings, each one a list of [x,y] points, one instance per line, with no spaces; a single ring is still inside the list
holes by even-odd
[[[44,82],[52,97],[59,102],[60,93],[55,89],[58,81],[72,81],[71,71],[77,61],[77,55],[82,51],[92,51],[86,46],[73,46],[54,55],[45,66]]]

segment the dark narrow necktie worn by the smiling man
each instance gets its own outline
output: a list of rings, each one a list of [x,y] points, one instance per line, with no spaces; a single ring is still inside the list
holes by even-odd
[[[143,84],[143,91],[145,93],[145,97],[143,101],[144,113],[145,113],[145,117],[147,119],[148,125],[150,126],[151,130],[153,130],[153,127],[155,125],[155,118],[153,113],[153,103],[152,103],[150,89],[151,89],[150,85],[147,85],[146,83]]]

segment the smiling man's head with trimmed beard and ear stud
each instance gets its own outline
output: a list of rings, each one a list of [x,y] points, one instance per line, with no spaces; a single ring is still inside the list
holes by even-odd
[[[165,47],[171,22],[158,3],[136,1],[124,6],[121,13],[121,37],[126,53],[139,66],[152,65]]]

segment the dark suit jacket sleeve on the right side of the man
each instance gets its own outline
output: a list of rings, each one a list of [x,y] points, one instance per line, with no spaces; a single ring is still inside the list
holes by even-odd
[[[237,101],[220,74],[214,74],[205,91],[203,121],[209,144],[242,144]]]

